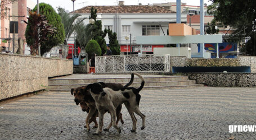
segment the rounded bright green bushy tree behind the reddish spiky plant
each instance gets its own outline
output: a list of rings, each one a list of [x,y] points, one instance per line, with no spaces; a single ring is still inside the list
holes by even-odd
[[[35,6],[32,11],[37,11],[37,6]],[[41,44],[41,54],[44,54],[46,52],[49,52],[51,48],[53,48],[53,46],[64,43],[65,31],[64,25],[61,22],[60,15],[55,12],[50,4],[39,3],[39,12],[41,15],[46,16],[46,20],[50,25],[56,28],[56,32],[54,34],[47,34],[47,38],[49,39]],[[31,32],[31,30],[30,27],[27,26],[26,35],[28,35],[29,32]],[[29,38],[26,39],[26,42],[28,43],[28,45],[32,44],[32,40],[30,40]]]

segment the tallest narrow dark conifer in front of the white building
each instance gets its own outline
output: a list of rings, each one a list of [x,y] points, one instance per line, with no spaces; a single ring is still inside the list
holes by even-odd
[[[97,43],[101,47],[101,55],[106,53],[106,40],[104,39],[106,37],[107,32],[102,31],[102,23],[101,20],[97,20],[97,9],[91,8],[91,15],[89,16],[89,19],[93,18],[95,20],[95,24],[93,25],[92,32],[95,32],[96,34],[92,36],[93,40],[96,40]]]

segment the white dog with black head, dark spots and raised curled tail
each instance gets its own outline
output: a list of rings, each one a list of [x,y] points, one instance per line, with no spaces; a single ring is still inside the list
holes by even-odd
[[[134,113],[138,114],[142,118],[142,127],[141,129],[145,128],[145,118],[146,116],[143,115],[140,111],[139,104],[141,95],[139,92],[142,90],[145,81],[144,78],[138,74],[134,73],[140,79],[142,80],[141,86],[139,88],[134,87],[124,87],[119,91],[114,91],[111,88],[102,88],[102,86],[99,83],[92,83],[87,86],[87,90],[91,92],[91,95],[93,99],[96,102],[96,107],[98,109],[98,117],[99,117],[99,125],[96,130],[96,133],[93,134],[99,134],[102,132],[103,127],[103,119],[105,110],[109,111],[111,114],[111,122],[113,127],[118,130],[118,133],[121,132],[120,127],[116,125],[116,107],[120,104],[125,104],[129,114],[131,115],[132,122],[133,122],[133,128],[132,132],[136,131],[136,118],[134,117]]]

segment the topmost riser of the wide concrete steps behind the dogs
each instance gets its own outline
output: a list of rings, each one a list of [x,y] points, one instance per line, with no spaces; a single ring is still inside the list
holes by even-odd
[[[159,81],[187,81],[187,76],[167,76],[167,77],[144,77],[145,82]],[[111,83],[128,83],[131,77],[121,78],[53,78],[49,80],[49,85],[70,84],[70,83],[94,83],[94,82],[111,82]],[[140,78],[134,76],[133,82],[141,82]]]

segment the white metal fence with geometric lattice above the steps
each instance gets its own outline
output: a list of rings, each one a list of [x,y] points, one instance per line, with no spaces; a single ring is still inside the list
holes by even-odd
[[[169,72],[170,55],[146,54],[95,57],[95,72]]]

